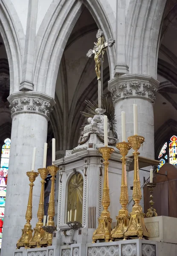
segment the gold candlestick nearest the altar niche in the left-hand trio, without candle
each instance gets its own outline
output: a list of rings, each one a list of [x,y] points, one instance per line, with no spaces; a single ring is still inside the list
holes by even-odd
[[[43,227],[44,228],[44,236],[39,242],[40,245],[42,246],[50,246],[52,245],[52,238],[53,238],[53,232],[49,233],[47,230],[54,230],[55,224],[53,221],[53,217],[55,216],[55,176],[58,171],[58,167],[56,166],[47,166],[47,169],[52,176],[51,179],[51,189],[50,189],[50,200],[49,200],[49,208],[48,208],[48,216],[49,216],[49,222],[48,222],[48,227]]]

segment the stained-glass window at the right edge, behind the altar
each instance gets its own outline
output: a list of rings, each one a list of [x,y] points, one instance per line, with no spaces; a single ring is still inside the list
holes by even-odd
[[[160,150],[158,160],[160,160],[160,165],[158,166],[158,170],[160,167],[164,165],[164,163],[171,163],[177,166],[177,136],[171,136],[168,142],[165,142]]]

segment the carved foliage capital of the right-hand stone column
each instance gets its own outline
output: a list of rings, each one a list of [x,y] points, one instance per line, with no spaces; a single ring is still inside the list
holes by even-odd
[[[125,75],[110,80],[108,88],[113,102],[126,97],[142,97],[154,102],[159,82],[151,76]]]

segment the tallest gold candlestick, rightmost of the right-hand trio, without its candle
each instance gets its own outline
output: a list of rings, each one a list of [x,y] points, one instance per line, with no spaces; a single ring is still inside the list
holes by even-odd
[[[133,180],[133,201],[134,205],[132,208],[132,212],[130,213],[131,219],[128,226],[127,231],[125,232],[125,236],[135,236],[139,239],[143,237],[148,239],[149,233],[145,227],[144,216],[145,214],[142,212],[142,207],[139,204],[140,200],[142,199],[141,187],[140,187],[140,180],[139,180],[139,166],[138,166],[138,155],[139,155],[139,148],[141,144],[144,142],[144,137],[139,135],[134,135],[128,137],[128,142],[131,144],[134,152],[134,180]]]

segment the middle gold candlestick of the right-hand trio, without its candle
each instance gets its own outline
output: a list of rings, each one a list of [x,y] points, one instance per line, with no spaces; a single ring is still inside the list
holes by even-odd
[[[120,142],[116,144],[116,148],[119,149],[122,155],[122,182],[121,182],[121,192],[120,192],[120,204],[122,209],[119,210],[119,215],[116,216],[117,224],[116,227],[111,232],[111,239],[124,238],[124,232],[128,228],[129,219],[128,216],[128,186],[127,186],[127,173],[126,173],[126,155],[131,149],[131,145],[128,142]]]

